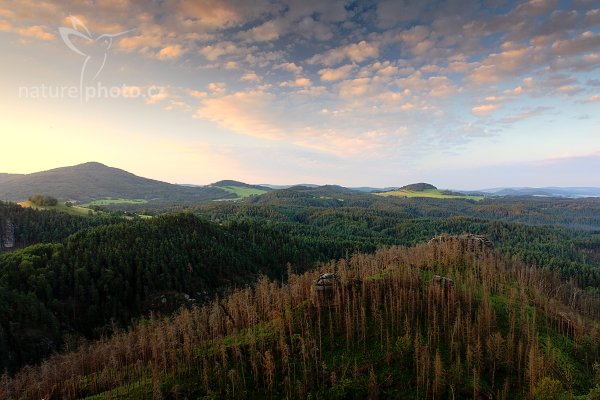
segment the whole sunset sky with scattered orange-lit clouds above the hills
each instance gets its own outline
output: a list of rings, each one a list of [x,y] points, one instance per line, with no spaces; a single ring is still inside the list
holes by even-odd
[[[597,0],[0,0],[0,172],[600,186]]]

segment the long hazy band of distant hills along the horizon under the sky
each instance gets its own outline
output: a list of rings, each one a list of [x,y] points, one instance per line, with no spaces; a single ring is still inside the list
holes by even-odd
[[[355,193],[435,189],[435,186],[422,182],[383,188],[315,185],[310,183],[294,185],[248,184],[237,180],[220,180],[210,185],[182,185],[141,177],[99,162],[86,162],[30,174],[0,173],[0,200],[7,201],[23,201],[32,195],[44,194],[56,197],[60,201],[88,202],[100,199],[137,199],[143,200],[144,203],[152,203],[152,205],[156,205],[156,203],[162,205],[167,203],[203,203],[223,199],[235,200],[246,197],[239,196],[239,193],[236,194],[236,191],[232,191],[231,187],[262,192],[298,188],[325,188],[325,190],[335,188],[335,191],[338,192]],[[456,192],[482,196],[600,197],[600,188],[596,187],[497,187],[482,190],[456,190]]]

